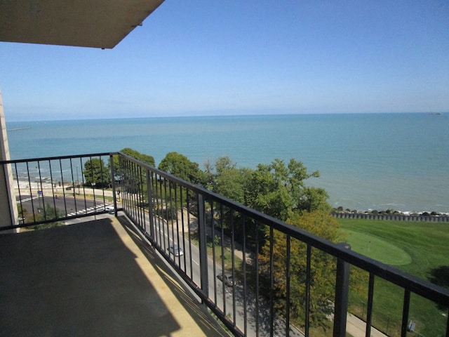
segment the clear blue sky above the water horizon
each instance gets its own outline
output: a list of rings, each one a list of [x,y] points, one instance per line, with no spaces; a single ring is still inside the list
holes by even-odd
[[[447,0],[166,0],[113,49],[0,42],[6,121],[449,112]]]

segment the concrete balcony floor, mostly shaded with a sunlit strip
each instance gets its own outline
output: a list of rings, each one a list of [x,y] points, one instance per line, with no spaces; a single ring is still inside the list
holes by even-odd
[[[229,336],[126,217],[77,221],[0,235],[0,336]]]

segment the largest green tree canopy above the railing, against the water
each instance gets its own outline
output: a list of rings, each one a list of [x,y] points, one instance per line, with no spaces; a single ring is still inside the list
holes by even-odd
[[[330,211],[326,190],[307,186],[305,180],[318,178],[319,171],[309,173],[301,161],[286,164],[274,159],[257,169],[237,169],[229,157],[217,159],[214,192],[241,202],[257,211],[287,220],[291,213]]]

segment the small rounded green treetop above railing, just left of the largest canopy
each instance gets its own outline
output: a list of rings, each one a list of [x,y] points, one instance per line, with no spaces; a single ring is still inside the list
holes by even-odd
[[[197,163],[190,161],[185,155],[177,152],[166,154],[158,168],[193,184],[203,184],[206,180],[203,171],[199,169]]]

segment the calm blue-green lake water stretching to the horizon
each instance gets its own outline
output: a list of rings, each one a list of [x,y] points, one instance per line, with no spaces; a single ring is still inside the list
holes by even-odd
[[[131,147],[203,166],[229,156],[255,168],[295,158],[333,206],[449,212],[449,115],[310,114],[7,122],[11,159]],[[27,128],[13,131],[15,128]]]

